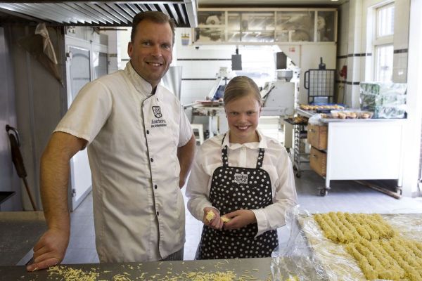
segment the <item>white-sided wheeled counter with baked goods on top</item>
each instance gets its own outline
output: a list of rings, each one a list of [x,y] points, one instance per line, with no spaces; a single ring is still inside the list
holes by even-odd
[[[300,109],[297,112],[305,117],[316,114]],[[404,166],[402,151],[407,119],[319,121],[328,126],[326,152],[320,154],[320,157],[311,155],[311,159],[321,159],[321,162],[314,164],[326,170],[325,188],[319,188],[319,195],[325,196],[328,193],[333,180],[395,180],[395,192],[376,185],[369,186],[396,198],[401,196]]]

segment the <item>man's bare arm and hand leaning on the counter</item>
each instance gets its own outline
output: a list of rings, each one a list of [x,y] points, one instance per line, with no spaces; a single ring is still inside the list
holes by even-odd
[[[69,161],[88,141],[69,133],[55,132],[41,157],[40,189],[49,230],[34,246],[34,263],[28,271],[54,266],[63,261],[69,244]]]

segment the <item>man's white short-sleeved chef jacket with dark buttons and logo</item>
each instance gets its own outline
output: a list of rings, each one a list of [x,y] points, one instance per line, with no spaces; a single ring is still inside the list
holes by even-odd
[[[158,261],[184,246],[177,148],[192,130],[179,100],[124,70],[79,91],[55,131],[89,142],[101,262]]]

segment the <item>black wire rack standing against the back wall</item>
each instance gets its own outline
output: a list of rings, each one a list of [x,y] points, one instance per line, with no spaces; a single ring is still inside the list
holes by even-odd
[[[333,103],[335,70],[326,70],[325,63],[316,70],[305,71],[305,89],[308,91],[308,103]]]

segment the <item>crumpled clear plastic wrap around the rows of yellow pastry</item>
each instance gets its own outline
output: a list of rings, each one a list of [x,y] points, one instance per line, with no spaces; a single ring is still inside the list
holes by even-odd
[[[422,214],[381,216],[397,230],[399,237],[422,242]],[[286,215],[286,226],[290,237],[287,244],[273,253],[272,280],[366,280],[359,264],[347,253],[344,245],[328,240],[312,214],[295,208]]]

